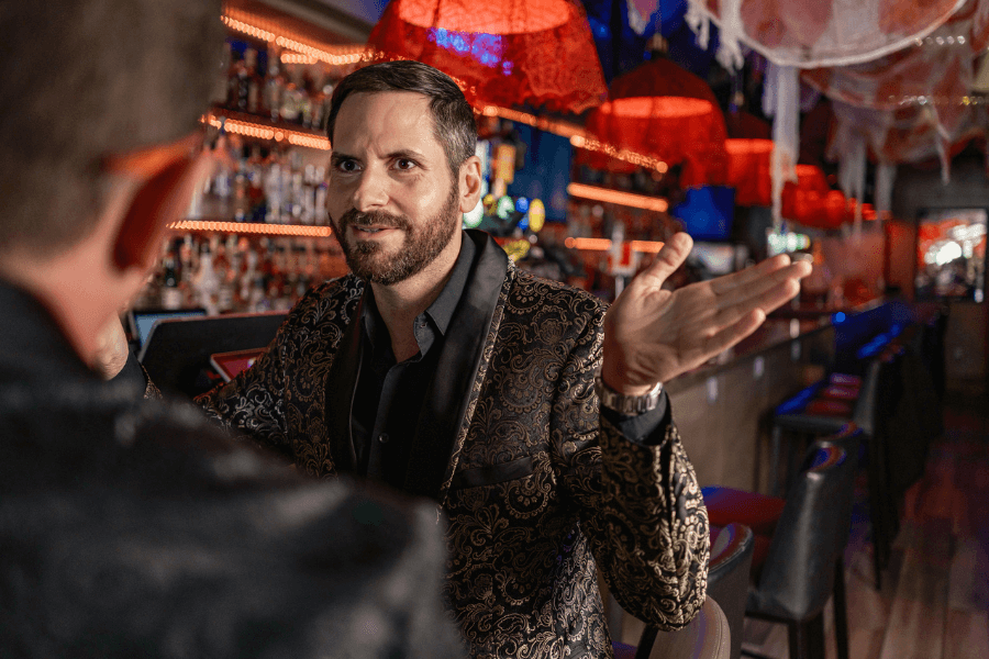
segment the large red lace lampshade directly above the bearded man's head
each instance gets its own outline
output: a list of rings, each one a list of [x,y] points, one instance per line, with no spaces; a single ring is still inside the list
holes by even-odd
[[[575,0],[392,0],[368,46],[438,68],[471,103],[578,114],[607,92]]]

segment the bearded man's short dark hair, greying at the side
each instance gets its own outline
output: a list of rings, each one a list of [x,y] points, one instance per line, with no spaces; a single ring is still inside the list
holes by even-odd
[[[456,176],[464,160],[473,156],[477,148],[474,111],[453,78],[419,62],[382,62],[357,69],[344,78],[330,99],[326,124],[330,142],[333,142],[333,126],[340,107],[348,96],[385,91],[413,91],[429,97],[433,133],[443,144],[451,171]]]

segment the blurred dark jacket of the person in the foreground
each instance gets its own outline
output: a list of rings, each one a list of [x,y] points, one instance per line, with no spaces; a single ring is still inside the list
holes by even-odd
[[[0,283],[0,657],[463,657],[433,506],[98,380]]]

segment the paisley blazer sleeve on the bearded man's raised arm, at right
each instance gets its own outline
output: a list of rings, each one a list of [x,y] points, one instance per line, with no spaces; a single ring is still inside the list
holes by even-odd
[[[701,489],[669,406],[655,446],[633,443],[599,414],[593,373],[602,339],[600,309],[571,344],[554,401],[551,435],[562,480],[619,604],[660,629],[679,629],[707,595]]]

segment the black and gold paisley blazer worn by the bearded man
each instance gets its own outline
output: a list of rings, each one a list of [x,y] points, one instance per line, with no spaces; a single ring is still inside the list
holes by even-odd
[[[611,657],[596,566],[629,613],[686,625],[705,596],[708,520],[676,427],[667,416],[640,446],[599,421],[605,305],[467,236],[478,256],[403,489],[446,517],[446,596],[473,656]],[[353,276],[310,291],[267,354],[200,402],[311,474],[353,469],[363,292]]]

